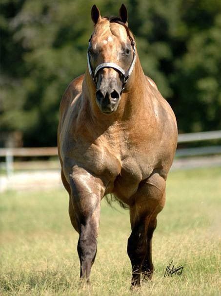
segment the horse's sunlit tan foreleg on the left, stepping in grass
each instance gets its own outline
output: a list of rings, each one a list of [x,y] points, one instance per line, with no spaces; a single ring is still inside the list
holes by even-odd
[[[70,186],[71,204],[79,232],[77,249],[80,259],[80,278],[88,282],[97,253],[100,200],[104,190],[100,179],[80,168],[71,174]]]

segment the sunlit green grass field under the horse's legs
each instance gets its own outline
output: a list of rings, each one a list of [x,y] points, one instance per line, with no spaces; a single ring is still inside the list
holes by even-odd
[[[0,196],[0,295],[221,295],[221,168],[173,171],[154,233],[153,280],[130,291],[129,212],[102,202],[91,285],[79,285],[78,234],[64,189]],[[182,274],[164,278],[173,260]]]

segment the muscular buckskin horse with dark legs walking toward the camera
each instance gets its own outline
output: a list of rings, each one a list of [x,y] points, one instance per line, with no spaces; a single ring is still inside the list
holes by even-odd
[[[144,75],[127,15],[123,4],[119,17],[101,17],[92,7],[85,74],[69,84],[60,102],[58,152],[71,224],[79,233],[80,279],[89,282],[100,203],[113,194],[129,207],[127,253],[135,287],[154,272],[152,236],[165,204],[177,123]]]

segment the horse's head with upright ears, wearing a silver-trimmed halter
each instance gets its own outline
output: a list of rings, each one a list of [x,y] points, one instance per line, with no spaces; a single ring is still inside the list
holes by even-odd
[[[115,112],[121,93],[133,71],[135,42],[127,27],[127,10],[122,4],[120,18],[101,18],[96,5],[91,17],[95,24],[88,47],[88,68],[96,85],[96,101],[105,114]]]

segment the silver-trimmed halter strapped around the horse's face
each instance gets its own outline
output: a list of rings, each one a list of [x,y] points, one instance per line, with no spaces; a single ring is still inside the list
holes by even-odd
[[[91,77],[92,77],[92,79],[93,79],[96,86],[97,86],[97,74],[100,71],[100,69],[113,68],[113,69],[117,70],[118,72],[120,72],[120,74],[123,76],[123,85],[122,85],[121,92],[124,91],[125,84],[127,83],[127,80],[128,80],[128,78],[130,77],[130,75],[131,75],[131,73],[133,71],[133,68],[134,68],[134,65],[135,65],[135,62],[136,62],[136,59],[137,59],[136,51],[135,51],[135,42],[134,42],[134,40],[132,38],[130,38],[130,40],[131,40],[131,46],[132,46],[132,49],[133,49],[133,59],[132,59],[131,65],[130,65],[130,67],[129,67],[129,69],[127,71],[124,71],[120,66],[118,66],[115,63],[102,63],[102,64],[98,65],[98,67],[93,72],[93,69],[91,67],[91,61],[90,61],[90,53],[89,53],[89,50],[87,50],[88,70],[89,70],[89,73],[90,73],[90,75],[91,75]],[[90,46],[90,42],[91,42],[91,38],[89,39],[89,46]]]

